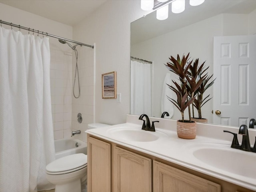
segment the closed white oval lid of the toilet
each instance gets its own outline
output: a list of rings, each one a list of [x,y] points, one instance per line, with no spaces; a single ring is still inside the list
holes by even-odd
[[[66,172],[78,170],[87,165],[87,155],[83,153],[68,155],[49,163],[46,166],[47,172]]]

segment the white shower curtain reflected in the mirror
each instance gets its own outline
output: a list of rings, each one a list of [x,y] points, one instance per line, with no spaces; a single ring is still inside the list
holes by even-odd
[[[131,106],[130,114],[147,114],[151,112],[151,65],[131,60]]]

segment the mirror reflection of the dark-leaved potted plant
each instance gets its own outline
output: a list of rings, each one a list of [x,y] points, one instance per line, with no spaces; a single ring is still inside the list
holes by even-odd
[[[209,98],[210,94],[204,98],[203,94],[210,86],[213,85],[215,79],[212,80],[210,83],[208,83],[210,81],[210,79],[212,78],[213,74],[211,76],[209,76],[208,72],[206,72],[209,67],[204,68],[205,62],[203,62],[200,66],[198,66],[198,61],[199,61],[199,59],[196,59],[194,64],[190,65],[190,69],[188,70],[188,75],[191,77],[194,77],[195,79],[199,79],[201,76],[204,76],[204,80],[203,80],[202,84],[198,87],[198,89],[195,92],[195,99],[194,99],[194,102],[192,105],[192,108],[193,108],[192,120],[194,120],[196,122],[207,123],[208,120],[205,118],[202,118],[201,108],[204,104],[206,104],[206,102],[208,102],[212,98]],[[194,117],[194,107],[198,111],[198,118]]]

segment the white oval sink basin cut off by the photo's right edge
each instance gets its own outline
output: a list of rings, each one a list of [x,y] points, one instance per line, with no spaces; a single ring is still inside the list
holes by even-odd
[[[256,154],[232,149],[226,144],[201,144],[193,150],[195,158],[227,172],[256,178]]]

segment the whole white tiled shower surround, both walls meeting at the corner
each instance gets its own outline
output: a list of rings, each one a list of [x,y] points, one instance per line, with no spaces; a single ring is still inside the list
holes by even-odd
[[[73,83],[76,70],[74,51],[50,50],[51,54],[51,98],[54,139],[68,138],[72,131],[86,142],[87,125],[94,122],[94,49],[76,47],[78,50],[78,69],[80,97],[73,96]],[[78,77],[76,76],[75,95],[78,96]],[[77,114],[82,114],[82,123],[77,122]]]

